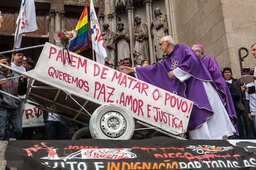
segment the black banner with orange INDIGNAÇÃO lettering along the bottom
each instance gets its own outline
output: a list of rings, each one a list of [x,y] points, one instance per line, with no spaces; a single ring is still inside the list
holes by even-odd
[[[242,147],[239,147],[241,145]],[[178,140],[17,140],[6,150],[17,169],[255,169],[256,142]]]

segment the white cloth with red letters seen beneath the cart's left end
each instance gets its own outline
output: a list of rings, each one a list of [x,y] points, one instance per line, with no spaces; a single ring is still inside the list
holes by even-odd
[[[22,127],[39,127],[45,126],[43,122],[43,111],[38,107],[25,103],[25,110],[22,116]]]

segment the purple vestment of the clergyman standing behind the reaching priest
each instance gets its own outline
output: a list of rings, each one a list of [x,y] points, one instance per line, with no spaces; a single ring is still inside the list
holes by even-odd
[[[236,116],[236,110],[234,108],[234,102],[231,97],[228,84],[224,80],[223,76],[221,75],[220,67],[215,60],[214,57],[203,55],[201,58],[203,64],[208,69],[211,78],[213,78],[213,81],[215,82],[218,92],[221,95],[221,98],[224,101],[224,107],[226,108],[229,118],[231,118],[231,121],[234,125],[234,127],[237,128],[237,116]],[[238,131],[237,131],[238,133]]]

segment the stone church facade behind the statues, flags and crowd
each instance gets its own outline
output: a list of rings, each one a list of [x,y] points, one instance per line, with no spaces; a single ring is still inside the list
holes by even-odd
[[[87,0],[85,0],[87,1]],[[46,41],[54,42],[54,34],[66,28],[74,30],[77,20],[83,10],[84,0],[35,0],[36,22],[38,30],[33,33],[25,33],[22,47],[43,44]],[[231,67],[234,77],[241,76],[239,62],[239,48],[245,47],[249,55],[242,62],[242,67],[254,68],[256,59],[250,54],[250,46],[256,42],[256,3],[251,0],[93,0],[101,32],[104,31],[104,23],[108,23],[108,29],[114,35],[118,33],[119,23],[122,22],[127,31],[127,41],[130,53],[126,57],[136,64],[140,54],[137,50],[134,31],[137,25],[134,19],[139,15],[144,24],[143,31],[147,42],[147,59],[151,63],[161,60],[158,53],[158,44],[154,39],[152,23],[156,19],[155,9],[161,10],[166,29],[164,34],[173,36],[179,44],[188,46],[202,44],[206,55],[216,58],[221,70]],[[90,8],[90,1],[88,1]],[[15,20],[19,14],[20,0],[1,0],[0,10],[4,17],[4,23],[0,28],[1,51],[13,46]],[[90,22],[90,19],[89,19]],[[114,47],[111,60],[119,61],[117,43]],[[140,40],[139,40],[140,41]],[[145,47],[145,45],[144,45]],[[29,52],[29,55],[38,57],[40,49]],[[120,54],[120,52],[119,52]],[[82,55],[91,57],[92,51]],[[241,51],[245,55],[245,51]]]

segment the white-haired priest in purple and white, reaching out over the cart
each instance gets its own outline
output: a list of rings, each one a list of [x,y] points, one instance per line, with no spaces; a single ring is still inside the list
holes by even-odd
[[[163,61],[147,67],[121,66],[119,70],[135,72],[137,78],[147,83],[192,100],[187,129],[190,139],[233,136],[236,129],[216,92],[216,84],[195,52],[185,44],[176,44],[171,36],[159,39],[159,46],[168,54]]]

